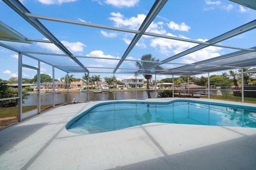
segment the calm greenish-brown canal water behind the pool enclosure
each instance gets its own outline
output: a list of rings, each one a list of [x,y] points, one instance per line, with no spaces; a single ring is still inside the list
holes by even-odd
[[[41,94],[41,105],[52,104],[53,94]],[[155,98],[155,92],[150,92],[151,98]],[[85,92],[61,92],[55,94],[55,104],[71,102],[75,98],[78,102],[87,102],[89,95]],[[34,106],[37,105],[37,95],[28,95],[28,98],[24,100],[22,106]],[[102,92],[94,93],[90,92],[90,101],[96,100],[122,100],[122,99],[136,99],[136,91],[125,92]],[[137,99],[148,98],[146,91],[137,91]]]

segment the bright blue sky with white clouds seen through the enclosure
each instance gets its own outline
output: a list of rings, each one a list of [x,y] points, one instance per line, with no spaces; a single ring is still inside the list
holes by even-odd
[[[133,30],[139,29],[140,24],[144,21],[151,6],[154,4],[153,0],[20,0],[20,2],[32,14]],[[255,10],[229,0],[169,0],[146,31],[198,41],[207,41],[255,20],[255,18]],[[25,37],[46,39],[44,35],[36,31],[34,27],[24,21],[2,1],[0,1],[0,20]],[[97,59],[79,58],[79,60],[85,66],[90,67],[88,68],[91,72],[90,76],[100,75],[102,81],[104,81],[104,77],[113,76],[113,74],[104,73],[108,71],[103,67],[113,68],[118,61],[100,58],[120,59],[134,37],[133,33],[59,22],[55,23],[46,20],[40,21],[73,55],[98,57]],[[250,48],[255,46],[255,37],[256,30],[254,29],[225,40],[221,44]],[[21,51],[43,50],[46,53],[63,54],[55,45],[50,43],[4,43],[12,45]],[[142,55],[150,53],[153,57],[161,61],[195,45],[197,44],[143,35],[126,59],[139,60]],[[211,46],[172,62],[184,64],[194,63],[235,51],[237,50]],[[47,58],[48,61],[53,63],[61,60],[64,65],[73,62],[69,58],[64,57],[43,56],[42,59],[44,58]],[[22,63],[38,67],[36,60],[26,56],[23,56]],[[163,66],[168,69],[181,65],[164,64]],[[135,62],[126,61],[121,64],[120,68],[136,69]],[[52,77],[52,66],[41,62],[40,72]],[[66,75],[66,72],[57,68],[55,68],[54,72],[55,79],[58,80]],[[83,76],[83,73],[69,74],[74,74],[75,78],[82,78]],[[221,72],[212,72],[210,74],[221,74]],[[22,78],[33,78],[35,75],[35,70],[22,68]],[[117,80],[122,80],[129,76],[134,76],[134,74],[115,74],[115,76]],[[143,77],[142,75],[138,76]],[[200,76],[208,75],[198,75],[198,77]],[[18,53],[0,46],[0,78],[8,80],[11,77],[18,77]],[[171,77],[157,75],[156,79],[161,80]]]

